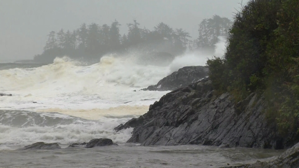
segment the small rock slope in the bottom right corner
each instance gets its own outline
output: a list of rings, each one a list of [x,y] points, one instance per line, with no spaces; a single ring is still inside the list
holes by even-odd
[[[254,164],[245,164],[242,166],[234,167],[221,167],[221,168],[298,168],[299,167],[299,143],[295,144],[292,148],[283,152],[277,158],[269,162],[257,161]]]

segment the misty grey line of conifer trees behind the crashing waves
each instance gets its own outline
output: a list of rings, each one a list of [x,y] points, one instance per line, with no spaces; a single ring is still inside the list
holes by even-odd
[[[52,63],[54,58],[69,56],[98,61],[109,53],[126,53],[138,49],[139,52],[165,52],[171,55],[190,50],[205,49],[213,53],[219,36],[227,36],[232,22],[228,18],[214,15],[204,19],[198,25],[199,36],[190,40],[191,36],[182,28],[173,29],[161,22],[153,30],[141,28],[136,19],[126,24],[127,34],[120,35],[120,23],[115,20],[109,26],[96,23],[83,23],[76,30],[51,31],[48,34],[44,51],[34,56],[34,61]]]

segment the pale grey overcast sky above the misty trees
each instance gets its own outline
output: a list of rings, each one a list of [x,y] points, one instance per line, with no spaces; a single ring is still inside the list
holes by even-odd
[[[213,15],[233,18],[241,0],[0,0],[0,61],[42,53],[50,31],[117,19],[127,33],[133,18],[152,30],[159,22],[197,38],[198,24]],[[243,0],[243,3],[245,0]]]

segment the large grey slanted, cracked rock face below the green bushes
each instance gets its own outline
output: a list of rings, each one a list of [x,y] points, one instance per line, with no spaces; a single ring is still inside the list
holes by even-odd
[[[149,111],[115,128],[134,127],[127,141],[141,145],[203,144],[283,149],[294,142],[276,135],[264,116],[263,96],[252,93],[235,104],[228,93],[216,97],[205,78],[164,95]]]

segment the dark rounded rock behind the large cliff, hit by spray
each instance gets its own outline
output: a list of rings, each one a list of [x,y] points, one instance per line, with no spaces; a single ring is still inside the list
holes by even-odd
[[[184,87],[194,83],[208,75],[208,68],[202,66],[188,66],[161,79],[156,85],[149,86],[142,90],[167,91]]]

